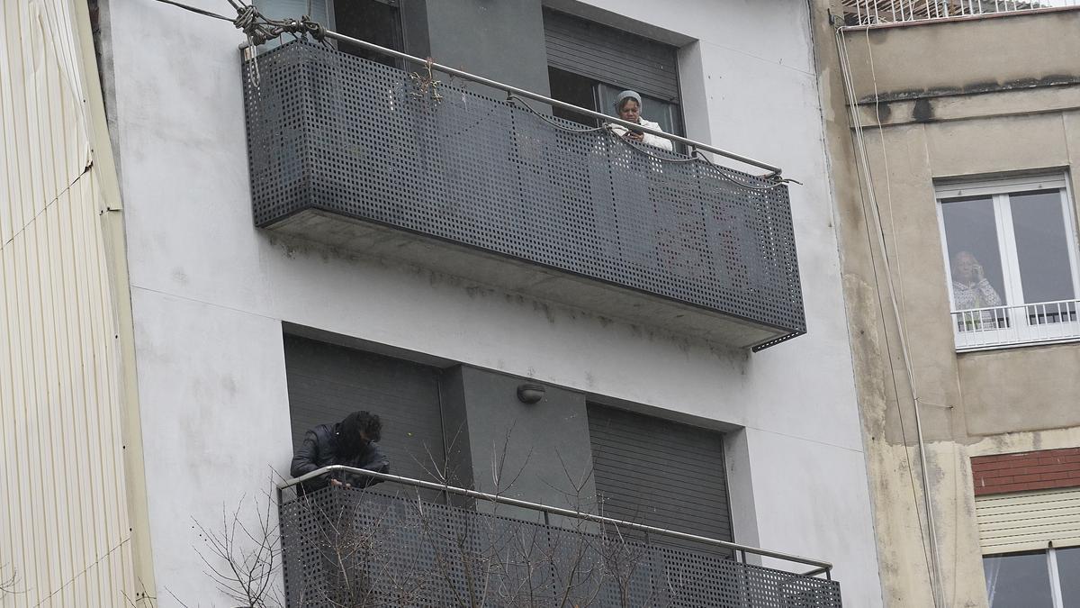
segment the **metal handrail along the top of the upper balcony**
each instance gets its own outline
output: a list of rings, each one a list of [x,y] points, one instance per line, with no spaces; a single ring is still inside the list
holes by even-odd
[[[634,123],[634,122],[630,122],[630,121],[623,120],[621,118],[617,118],[617,117],[613,117],[613,116],[608,116],[606,114],[602,114],[602,113],[598,113],[598,111],[595,111],[595,110],[591,110],[591,109],[588,109],[588,108],[576,106],[573,104],[568,104],[566,102],[561,102],[558,100],[552,98],[552,97],[546,97],[546,96],[541,95],[539,93],[534,93],[534,92],[527,91],[525,89],[518,89],[517,87],[505,84],[505,83],[499,82],[497,80],[491,80],[490,78],[484,78],[483,76],[476,76],[475,74],[471,74],[471,72],[468,72],[468,71],[464,71],[464,70],[461,70],[461,69],[453,68],[453,67],[447,66],[447,65],[437,64],[437,63],[434,63],[434,62],[431,62],[429,64],[429,60],[423,60],[423,58],[417,57],[415,55],[409,55],[408,53],[403,53],[401,51],[395,51],[393,49],[388,49],[386,47],[380,47],[378,44],[374,44],[374,43],[368,42],[366,40],[360,40],[359,38],[352,38],[351,36],[346,36],[343,34],[338,34],[337,31],[334,31],[334,30],[330,30],[330,29],[323,29],[322,32],[323,32],[323,36],[325,36],[326,38],[332,38],[334,40],[338,40],[338,41],[341,41],[341,42],[348,42],[350,44],[355,44],[357,47],[367,49],[368,51],[375,51],[376,53],[381,53],[383,55],[389,55],[391,57],[397,57],[397,58],[405,60],[405,61],[408,61],[408,62],[413,62],[413,63],[416,63],[416,64],[420,64],[420,65],[423,65],[423,66],[429,66],[429,67],[431,67],[431,69],[436,69],[438,71],[446,72],[446,74],[449,74],[451,76],[457,76],[459,78],[464,78],[465,80],[471,80],[473,82],[478,82],[481,84],[486,84],[487,87],[492,87],[495,89],[501,89],[502,91],[505,91],[508,93],[513,93],[514,95],[519,95],[522,97],[527,97],[529,100],[534,100],[534,101],[537,101],[537,102],[542,102],[542,103],[545,103],[545,104],[549,104],[549,105],[552,105],[552,106],[555,106],[555,107],[563,108],[563,109],[568,109],[570,111],[575,111],[577,114],[581,114],[581,115],[589,116],[589,117],[592,117],[592,118],[598,118],[598,119],[602,119],[602,120],[604,120],[606,122],[610,122],[610,123],[613,123],[613,124],[621,124],[623,127],[633,129],[634,131],[640,131],[640,132],[644,132],[644,133],[649,133],[650,135],[657,135],[658,137],[664,137],[665,140],[671,140],[673,142],[678,142],[680,144],[685,144],[687,146],[690,146],[691,148],[697,148],[697,149],[700,149],[700,150],[710,151],[710,153],[713,153],[715,155],[723,156],[725,158],[730,158],[732,160],[738,160],[739,162],[744,162],[744,163],[751,164],[753,167],[765,169],[766,171],[769,171],[769,173],[766,175],[767,177],[777,176],[777,175],[780,175],[783,172],[783,170],[781,168],[775,167],[773,164],[769,164],[768,162],[762,162],[760,160],[755,160],[755,159],[750,158],[747,156],[742,156],[740,154],[735,154],[735,153],[732,153],[732,151],[720,149],[720,148],[711,146],[708,144],[703,144],[703,143],[697,142],[694,140],[683,137],[680,135],[675,135],[674,133],[664,133],[663,131],[660,131],[658,129],[649,129],[648,127],[643,127],[640,124],[637,124],[637,123]]]

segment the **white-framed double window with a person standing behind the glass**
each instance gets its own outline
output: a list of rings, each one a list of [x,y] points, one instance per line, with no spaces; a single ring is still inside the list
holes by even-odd
[[[1064,176],[937,187],[958,349],[1080,338]]]

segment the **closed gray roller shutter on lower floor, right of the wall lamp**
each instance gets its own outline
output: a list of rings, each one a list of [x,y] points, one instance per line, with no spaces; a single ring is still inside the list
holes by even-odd
[[[596,405],[589,433],[604,515],[731,540],[720,433]]]

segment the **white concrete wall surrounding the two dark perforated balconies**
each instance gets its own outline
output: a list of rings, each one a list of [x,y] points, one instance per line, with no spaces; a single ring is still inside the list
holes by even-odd
[[[195,2],[221,11],[225,4]],[[691,136],[782,166],[809,334],[751,355],[292,248],[252,223],[228,24],[153,2],[110,8],[162,606],[213,603],[190,517],[268,488],[291,452],[282,320],[747,427],[731,464],[737,540],[836,564],[849,606],[880,604],[864,455],[804,2],[596,1],[698,38],[681,78]],[[676,9],[675,5],[681,6]],[[700,68],[699,68],[700,69]],[[690,110],[688,110],[688,114]],[[692,132],[696,123],[710,132]]]

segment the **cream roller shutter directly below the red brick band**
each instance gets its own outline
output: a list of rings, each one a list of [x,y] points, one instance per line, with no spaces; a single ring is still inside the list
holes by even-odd
[[[975,497],[983,555],[1080,545],[1080,489]]]

